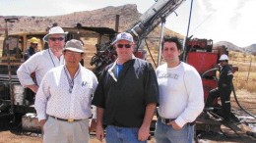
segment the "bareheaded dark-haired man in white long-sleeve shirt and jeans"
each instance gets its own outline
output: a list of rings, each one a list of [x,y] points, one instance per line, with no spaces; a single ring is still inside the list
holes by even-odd
[[[181,48],[178,38],[163,38],[162,57],[166,63],[156,71],[160,87],[155,132],[158,143],[192,143],[193,122],[204,108],[202,79],[192,66],[179,60]]]

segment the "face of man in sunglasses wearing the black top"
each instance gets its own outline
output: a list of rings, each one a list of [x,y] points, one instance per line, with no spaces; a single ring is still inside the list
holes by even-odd
[[[119,60],[126,62],[132,59],[133,45],[131,42],[120,40],[114,46]]]

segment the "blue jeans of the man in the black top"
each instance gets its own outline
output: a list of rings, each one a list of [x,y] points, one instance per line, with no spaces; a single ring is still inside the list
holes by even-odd
[[[118,127],[107,125],[105,128],[106,143],[147,143],[147,141],[138,140],[139,128]]]

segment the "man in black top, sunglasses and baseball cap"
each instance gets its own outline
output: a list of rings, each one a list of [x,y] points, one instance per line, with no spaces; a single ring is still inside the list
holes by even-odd
[[[122,32],[113,42],[117,60],[102,71],[93,105],[96,138],[107,143],[145,143],[158,103],[159,86],[152,65],[133,56],[133,37]]]

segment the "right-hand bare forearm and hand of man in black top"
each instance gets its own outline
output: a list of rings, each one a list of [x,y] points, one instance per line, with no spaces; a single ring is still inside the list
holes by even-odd
[[[138,132],[138,140],[145,141],[148,139],[150,135],[151,122],[155,114],[156,107],[156,103],[150,103],[147,105],[143,123]]]

